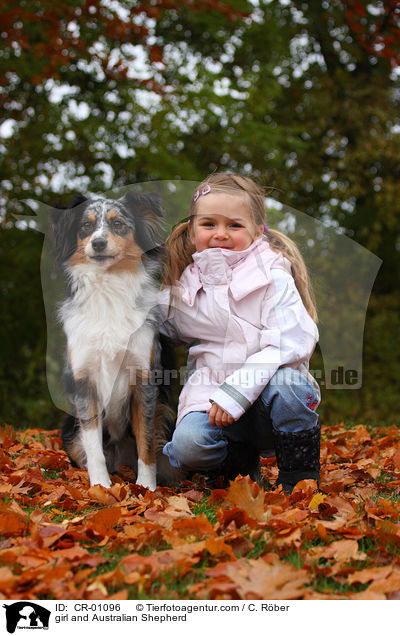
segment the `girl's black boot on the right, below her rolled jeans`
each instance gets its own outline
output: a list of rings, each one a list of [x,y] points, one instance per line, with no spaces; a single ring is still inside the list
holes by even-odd
[[[319,487],[321,425],[311,430],[286,433],[274,430],[276,462],[279,468],[276,486],[292,493],[302,479],[315,479]]]

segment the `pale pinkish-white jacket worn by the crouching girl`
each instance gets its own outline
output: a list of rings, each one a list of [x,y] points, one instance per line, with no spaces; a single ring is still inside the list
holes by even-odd
[[[290,273],[290,263],[266,238],[235,252],[210,248],[173,289],[161,292],[161,332],[188,349],[177,424],[216,402],[237,420],[281,366],[308,372],[318,329]]]

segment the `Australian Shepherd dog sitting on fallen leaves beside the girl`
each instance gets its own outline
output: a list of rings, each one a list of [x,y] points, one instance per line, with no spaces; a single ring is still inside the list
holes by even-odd
[[[151,490],[157,481],[178,480],[161,453],[173,423],[154,382],[162,357],[161,223],[161,201],[153,193],[116,200],[78,196],[52,211],[56,260],[67,280],[59,317],[67,337],[64,383],[74,410],[61,434],[91,486],[110,487],[109,474],[121,465]]]

